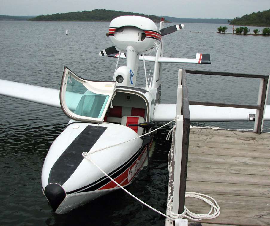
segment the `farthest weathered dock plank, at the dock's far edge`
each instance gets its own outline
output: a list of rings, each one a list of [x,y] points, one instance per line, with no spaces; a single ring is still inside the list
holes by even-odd
[[[231,137],[256,137],[256,138],[265,138],[270,139],[269,133],[261,133],[257,134],[254,132],[248,131],[235,131],[235,130],[221,130],[221,129],[199,129],[199,128],[191,128],[190,134],[217,134]]]

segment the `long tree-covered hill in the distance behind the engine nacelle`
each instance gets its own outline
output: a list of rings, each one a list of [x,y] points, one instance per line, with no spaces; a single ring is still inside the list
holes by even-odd
[[[29,19],[29,21],[111,21],[113,18],[124,15],[136,15],[150,18],[157,22],[160,17],[154,15],[145,15],[141,13],[122,12],[115,10],[91,10],[71,13],[56,13],[52,15],[41,15]]]

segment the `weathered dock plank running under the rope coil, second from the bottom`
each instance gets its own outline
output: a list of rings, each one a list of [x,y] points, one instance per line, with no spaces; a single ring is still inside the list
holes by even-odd
[[[236,195],[217,195],[217,194],[206,194],[211,196],[217,201],[220,209],[250,209],[250,210],[267,210],[270,211],[270,199],[263,197],[247,197],[247,196],[236,196]],[[210,206],[195,198],[186,198],[185,206],[200,206],[203,213],[207,213],[210,210]]]

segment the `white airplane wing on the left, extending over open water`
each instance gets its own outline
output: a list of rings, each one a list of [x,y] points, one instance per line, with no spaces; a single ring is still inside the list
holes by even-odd
[[[59,90],[0,79],[0,95],[58,107]]]

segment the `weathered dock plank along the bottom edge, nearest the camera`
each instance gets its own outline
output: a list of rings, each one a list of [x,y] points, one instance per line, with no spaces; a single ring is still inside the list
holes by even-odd
[[[225,225],[246,225],[246,226],[269,226],[270,211],[248,210],[248,209],[223,209],[220,215],[214,219],[203,219],[201,223],[216,223]],[[189,210],[194,213],[202,213],[200,207],[190,206]]]

